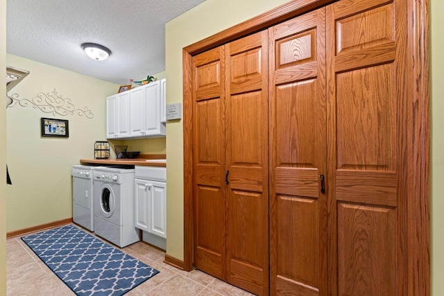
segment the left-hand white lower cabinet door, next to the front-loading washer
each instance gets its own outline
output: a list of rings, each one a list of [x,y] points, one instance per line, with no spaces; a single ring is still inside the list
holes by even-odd
[[[135,180],[135,218],[136,227],[149,232],[148,229],[148,195],[150,193],[150,182],[148,180]]]

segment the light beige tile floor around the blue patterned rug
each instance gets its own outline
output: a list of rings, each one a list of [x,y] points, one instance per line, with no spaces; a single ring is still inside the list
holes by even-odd
[[[130,290],[128,296],[252,295],[200,270],[185,272],[165,264],[165,253],[145,243],[135,243],[121,250],[160,271]],[[19,237],[7,240],[6,272],[8,296],[75,295]]]

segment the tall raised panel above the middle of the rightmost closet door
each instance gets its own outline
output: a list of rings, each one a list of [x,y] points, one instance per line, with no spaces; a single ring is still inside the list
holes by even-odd
[[[338,166],[393,171],[393,64],[336,74]]]

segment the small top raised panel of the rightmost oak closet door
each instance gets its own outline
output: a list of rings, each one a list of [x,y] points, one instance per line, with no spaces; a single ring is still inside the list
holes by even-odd
[[[336,21],[336,54],[394,41],[393,3]]]

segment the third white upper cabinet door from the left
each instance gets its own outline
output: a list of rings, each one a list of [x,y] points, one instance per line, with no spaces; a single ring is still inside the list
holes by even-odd
[[[137,87],[130,90],[130,121],[131,137],[144,135],[146,96],[144,87]]]

